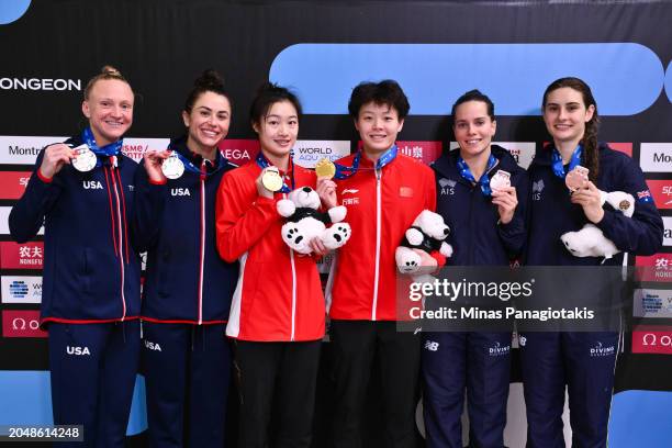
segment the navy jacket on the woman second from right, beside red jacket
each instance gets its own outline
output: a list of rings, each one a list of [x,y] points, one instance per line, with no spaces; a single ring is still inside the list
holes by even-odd
[[[490,177],[499,169],[508,171],[511,184],[516,188],[518,205],[508,224],[499,224],[500,214],[492,199],[460,176],[459,150],[444,153],[432,166],[437,182],[436,211],[450,227],[448,243],[453,254],[447,265],[508,266],[525,244],[527,175],[506,149],[496,145],[491,148],[497,164],[489,171]]]

